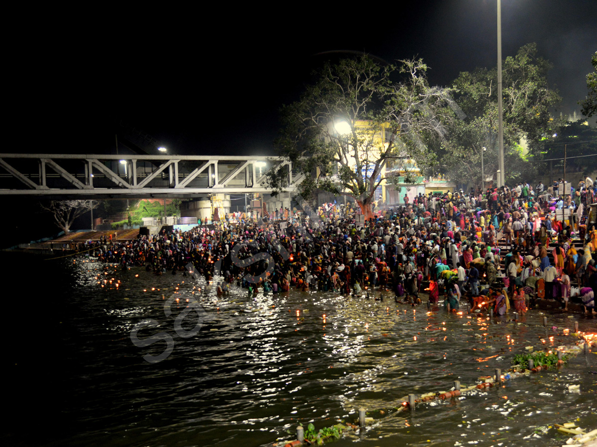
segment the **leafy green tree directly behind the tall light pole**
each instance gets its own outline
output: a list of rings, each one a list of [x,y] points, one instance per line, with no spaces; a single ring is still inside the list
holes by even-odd
[[[542,138],[557,126],[549,110],[560,101],[549,88],[550,64],[537,57],[535,44],[507,57],[502,69],[504,166],[506,182],[527,177],[529,159],[543,150]],[[463,183],[481,185],[481,152],[485,174],[498,169],[497,69],[463,72],[452,85],[454,100],[464,113],[450,126],[449,141],[438,148],[434,169]]]

